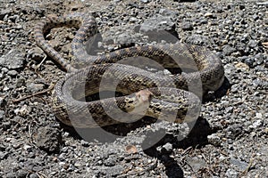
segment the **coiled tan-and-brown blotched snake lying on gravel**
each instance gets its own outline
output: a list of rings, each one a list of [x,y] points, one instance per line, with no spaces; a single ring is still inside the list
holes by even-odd
[[[63,26],[79,28],[71,44],[77,61],[71,64],[64,61],[44,37],[50,28]],[[90,56],[84,44],[95,34],[95,19],[80,13],[47,17],[40,20],[34,30],[38,46],[63,69],[71,71],[54,86],[52,101],[55,116],[66,125],[113,125],[132,122],[140,115],[176,123],[190,122],[199,114],[203,93],[215,91],[222,85],[222,61],[205,47],[189,44],[147,45]],[[150,60],[135,61],[136,67],[121,62],[137,56]],[[194,71],[163,75],[138,68],[154,63],[152,61],[167,69]],[[138,62],[142,65],[137,65]],[[88,95],[115,90],[123,96],[105,98],[100,94],[101,100],[85,101]]]

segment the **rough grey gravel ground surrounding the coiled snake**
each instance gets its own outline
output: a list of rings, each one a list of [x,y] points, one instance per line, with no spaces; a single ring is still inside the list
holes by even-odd
[[[267,1],[1,0],[0,7],[0,177],[268,176]],[[48,57],[37,68],[46,55],[32,32],[46,15],[70,12],[93,12],[106,51],[154,44],[152,29],[205,45],[221,57],[231,87],[205,101],[189,134],[188,125],[165,122],[105,128],[121,137],[62,125],[49,102],[64,72]],[[47,36],[66,59],[75,31]]]

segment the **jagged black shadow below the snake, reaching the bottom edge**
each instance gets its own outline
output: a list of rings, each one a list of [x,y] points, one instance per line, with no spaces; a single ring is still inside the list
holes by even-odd
[[[187,150],[188,148],[202,147],[208,143],[207,135],[213,134],[215,132],[216,129],[212,129],[204,118],[198,117],[197,122],[191,129],[187,138],[180,141],[180,139],[178,139],[175,134],[165,134],[163,136],[163,139],[155,143],[155,145],[151,148],[144,150],[144,153],[146,153],[150,157],[154,157],[160,160],[163,163],[163,166],[165,166],[165,172],[168,177],[184,177],[183,171],[180,168],[178,161],[171,157],[175,154],[172,150]],[[154,133],[149,136],[148,135],[149,134],[147,134],[147,138],[144,141],[146,145],[147,142],[154,140]],[[163,145],[165,145],[166,143],[172,144],[172,150],[166,150],[163,147]],[[157,150],[157,148],[161,149]]]

